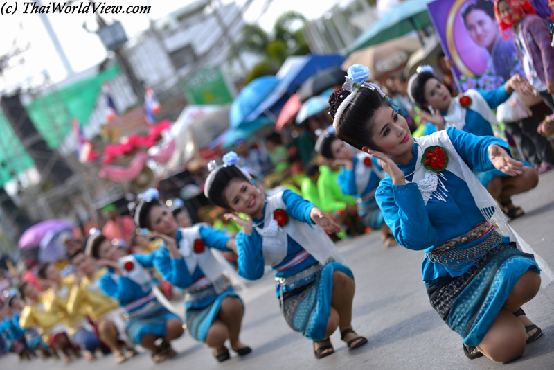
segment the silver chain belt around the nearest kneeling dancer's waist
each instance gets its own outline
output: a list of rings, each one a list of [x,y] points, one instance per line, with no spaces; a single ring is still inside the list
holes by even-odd
[[[493,230],[488,238],[474,247],[429,252],[425,254],[425,257],[432,263],[440,263],[441,265],[445,265],[446,267],[451,267],[456,270],[456,267],[461,266],[464,263],[475,263],[479,259],[478,256],[483,256],[483,254],[500,243],[502,243],[501,234]]]

